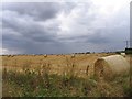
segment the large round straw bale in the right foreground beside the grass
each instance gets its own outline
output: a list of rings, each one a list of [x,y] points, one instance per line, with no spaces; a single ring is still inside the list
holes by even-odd
[[[117,76],[129,74],[130,64],[121,55],[99,57],[95,63],[97,78],[113,79]]]

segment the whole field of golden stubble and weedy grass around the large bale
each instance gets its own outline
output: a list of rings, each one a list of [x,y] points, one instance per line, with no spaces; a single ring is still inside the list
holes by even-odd
[[[132,96],[129,74],[109,80],[95,76],[95,62],[110,55],[116,53],[1,56],[2,97]]]

